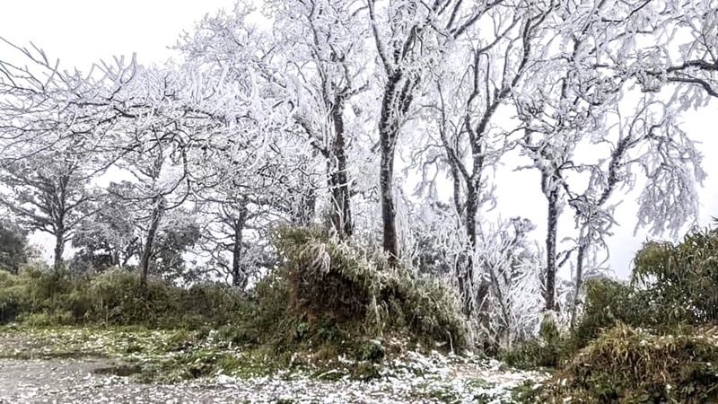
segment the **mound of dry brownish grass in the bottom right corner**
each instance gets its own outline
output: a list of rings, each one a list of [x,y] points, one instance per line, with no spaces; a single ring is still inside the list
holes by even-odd
[[[718,402],[718,328],[655,336],[619,324],[547,383],[541,402]]]

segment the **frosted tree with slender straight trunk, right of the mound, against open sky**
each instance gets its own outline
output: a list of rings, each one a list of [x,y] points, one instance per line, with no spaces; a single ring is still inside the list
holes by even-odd
[[[625,27],[614,18],[626,9],[605,1],[555,5],[544,38],[546,54],[513,95],[523,122],[521,151],[540,172],[547,200],[547,310],[556,309],[556,271],[568,258],[567,251],[558,251],[557,234],[568,173],[581,169],[574,155],[590,136],[605,135],[606,110],[617,102],[626,80],[615,74],[610,57],[602,52],[622,37]],[[597,15],[601,18],[594,18]]]

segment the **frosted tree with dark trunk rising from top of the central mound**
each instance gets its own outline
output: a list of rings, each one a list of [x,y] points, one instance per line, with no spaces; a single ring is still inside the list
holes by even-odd
[[[350,146],[365,113],[357,94],[366,91],[369,65],[363,2],[309,0],[269,4],[277,57],[293,119],[326,162],[331,224],[340,238],[354,233],[349,177]]]

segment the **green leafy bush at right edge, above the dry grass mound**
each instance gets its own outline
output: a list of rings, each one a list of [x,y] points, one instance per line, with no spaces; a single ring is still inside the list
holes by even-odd
[[[718,321],[718,233],[696,230],[683,242],[647,242],[635,257],[630,285],[585,284],[586,305],[571,344],[585,347],[617,323],[671,333]]]

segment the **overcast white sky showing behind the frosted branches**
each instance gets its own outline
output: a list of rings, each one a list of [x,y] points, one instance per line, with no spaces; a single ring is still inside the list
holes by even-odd
[[[246,0],[250,1],[250,0]],[[181,31],[189,31],[205,13],[220,8],[230,9],[234,0],[5,0],[0,12],[0,36],[18,45],[34,42],[49,57],[57,57],[65,67],[87,69],[94,61],[113,56],[137,54],[143,64],[162,63],[172,56],[167,47],[174,44]],[[4,50],[0,47],[0,57]],[[710,223],[718,215],[718,102],[710,110],[685,115],[684,130],[703,142],[708,178],[700,191],[702,202],[699,224]],[[538,180],[530,173],[504,174],[499,191],[499,211],[504,218],[515,215],[529,217],[538,224],[534,234],[543,240],[546,203],[538,190]],[[610,266],[619,277],[627,277],[630,260],[645,232],[633,235],[637,194],[626,197],[619,208],[621,224],[610,240]],[[568,216],[568,215],[566,215]],[[562,222],[565,230],[573,230],[572,221]],[[565,233],[569,235],[570,233]],[[35,237],[37,242],[43,238]]]

